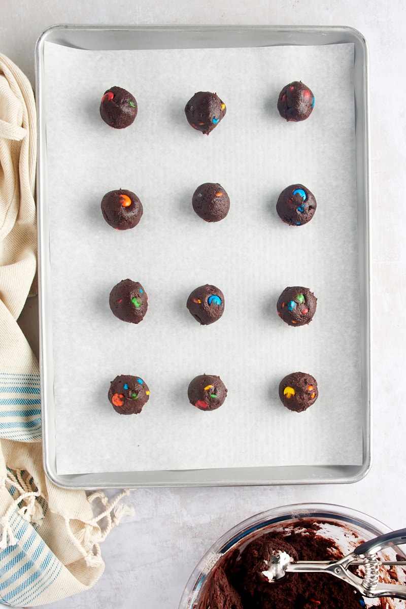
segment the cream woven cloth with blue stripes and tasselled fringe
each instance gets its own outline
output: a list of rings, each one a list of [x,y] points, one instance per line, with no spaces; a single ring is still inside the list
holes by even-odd
[[[104,569],[99,542],[129,512],[118,505],[128,491],[112,503],[87,498],[43,471],[38,361],[16,323],[35,285],[36,121],[29,81],[0,54],[0,602],[12,607],[92,586]]]

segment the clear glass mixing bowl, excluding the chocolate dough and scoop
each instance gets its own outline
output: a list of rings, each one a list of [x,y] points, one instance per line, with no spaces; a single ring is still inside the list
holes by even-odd
[[[334,540],[343,555],[352,552],[363,541],[368,541],[391,530],[372,516],[342,505],[295,504],[261,512],[237,524],[211,546],[189,577],[181,597],[179,609],[195,609],[198,607],[198,603],[205,593],[206,583],[217,563],[237,544],[239,547],[245,547],[265,533],[297,526],[300,525],[301,521],[309,519],[316,521],[318,524],[323,523],[320,531],[321,535]],[[395,550],[394,548],[387,548],[379,552],[378,556],[382,560],[396,560]],[[399,569],[399,567],[396,567],[396,569]],[[326,575],[326,577],[329,576]],[[397,583],[404,583],[404,571],[402,570],[399,572]],[[367,599],[367,604],[368,606],[380,606],[380,600]],[[387,597],[385,598],[385,607],[388,607],[388,609],[405,608],[406,602]]]

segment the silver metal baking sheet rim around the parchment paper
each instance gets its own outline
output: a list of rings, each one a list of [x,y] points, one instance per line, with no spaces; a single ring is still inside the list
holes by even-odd
[[[46,124],[43,114],[44,44],[52,42],[80,49],[156,49],[232,46],[284,46],[354,43],[355,147],[359,231],[360,319],[362,320],[362,465],[268,466],[211,470],[141,471],[60,475],[57,473],[55,403],[52,370],[51,319],[47,315],[46,276],[49,239],[44,202],[47,194]],[[38,282],[40,301],[40,375],[44,470],[64,488],[122,488],[214,485],[345,484],[368,473],[372,461],[371,358],[371,241],[369,166],[369,66],[363,35],[351,27],[295,26],[77,26],[57,25],[44,30],[35,48],[35,85],[38,113]]]

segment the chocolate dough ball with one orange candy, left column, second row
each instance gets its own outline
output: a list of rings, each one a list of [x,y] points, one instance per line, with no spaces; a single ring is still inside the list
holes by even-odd
[[[107,224],[117,230],[134,228],[141,220],[142,205],[134,192],[122,190],[107,192],[102,199],[102,214]]]

